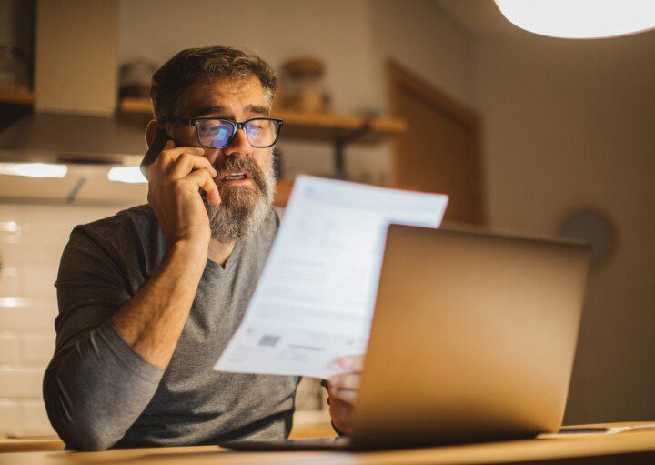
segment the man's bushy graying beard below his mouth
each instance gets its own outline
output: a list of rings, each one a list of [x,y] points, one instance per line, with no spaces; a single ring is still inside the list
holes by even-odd
[[[223,244],[245,242],[253,238],[272,210],[276,179],[273,157],[253,186],[219,187],[221,204],[214,205],[203,196],[211,237]]]

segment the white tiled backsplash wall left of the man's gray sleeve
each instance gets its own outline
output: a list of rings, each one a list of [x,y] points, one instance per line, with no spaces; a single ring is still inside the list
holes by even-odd
[[[0,204],[0,436],[52,436],[41,383],[55,348],[55,278],[70,231],[122,207]]]

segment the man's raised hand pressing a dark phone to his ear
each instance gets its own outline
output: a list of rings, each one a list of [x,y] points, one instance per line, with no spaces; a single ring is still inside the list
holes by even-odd
[[[199,189],[205,190],[207,199],[215,205],[221,199],[214,182],[217,171],[204,153],[201,147],[175,147],[166,131],[161,130],[141,164],[142,170],[146,167],[148,203],[169,247],[183,241],[207,253],[211,232]]]

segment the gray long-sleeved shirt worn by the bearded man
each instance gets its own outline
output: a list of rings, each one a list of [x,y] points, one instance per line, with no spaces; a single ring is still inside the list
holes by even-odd
[[[69,448],[288,436],[297,377],[212,369],[243,318],[278,226],[271,211],[225,267],[207,260],[166,370],[136,354],[110,319],[166,254],[154,212],[134,207],[73,230],[55,283],[56,349],[44,379],[48,416]]]

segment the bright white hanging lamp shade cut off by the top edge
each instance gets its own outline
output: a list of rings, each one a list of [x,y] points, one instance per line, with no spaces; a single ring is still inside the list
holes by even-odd
[[[552,37],[598,38],[655,28],[655,0],[496,0],[521,29]]]

